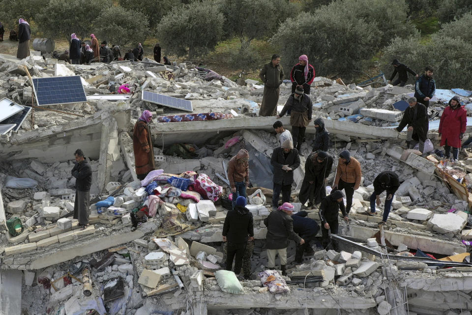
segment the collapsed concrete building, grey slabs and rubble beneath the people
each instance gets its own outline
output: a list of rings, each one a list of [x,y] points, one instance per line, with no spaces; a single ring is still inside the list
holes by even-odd
[[[236,85],[224,77],[206,80],[190,64],[68,65],[0,55],[0,99],[33,105],[28,73],[33,78],[79,75],[88,100],[44,107],[60,112],[35,108],[18,132],[0,138],[2,314],[470,314],[470,247],[461,240],[472,239],[472,177],[467,174],[472,159],[464,150],[461,164],[451,166],[439,163],[433,152],[421,157],[401,147],[404,135],[391,127],[401,118],[411,86],[361,88],[315,79],[310,97],[314,115],[324,118],[331,133],[329,153],[337,159],[341,150],[350,150],[364,178],[354,193],[350,224],[342,223],[340,235],[331,235],[339,251],[318,246],[302,264],[291,265],[288,277],[277,275],[284,290],[273,292],[259,277],[267,261],[263,220],[273,210],[269,160],[277,146],[275,117],[257,115],[263,86],[252,80]],[[123,83],[131,94],[114,93]],[[189,114],[178,109],[143,101],[143,90],[191,100],[192,113],[206,118],[186,118]],[[450,93],[438,92],[432,117],[440,115]],[[289,94],[290,84],[282,85],[280,101]],[[129,212],[148,197],[147,185],[134,171],[130,137],[145,109],[159,116],[151,132],[156,169],[165,174],[206,174],[227,196],[226,163],[240,147],[249,151],[249,192],[261,189],[266,203],[248,206],[256,239],[254,280],[238,282],[238,294],[215,278],[224,262],[223,196],[215,201],[204,194],[196,199],[161,194],[156,214],[137,229],[131,226]],[[189,117],[193,120],[185,121]],[[290,129],[288,117],[280,120]],[[431,139],[437,125],[438,120],[430,123]],[[310,125],[295,171],[297,207],[314,133]],[[183,151],[170,150],[181,144],[188,144]],[[70,169],[77,148],[86,152],[93,171],[91,226],[85,230],[70,219],[75,197]],[[362,213],[375,176],[384,170],[397,172],[403,183],[379,230],[381,218]],[[29,185],[19,186],[21,179]],[[109,207],[95,206],[110,196]],[[317,209],[307,211],[319,220]],[[21,230],[13,236],[6,222],[15,217]],[[291,262],[294,243],[288,253]]]

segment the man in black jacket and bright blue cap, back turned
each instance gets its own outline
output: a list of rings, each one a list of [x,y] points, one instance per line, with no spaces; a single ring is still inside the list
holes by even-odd
[[[252,240],[254,240],[252,213],[246,208],[246,197],[239,196],[236,199],[235,209],[228,211],[223,225],[223,241],[228,243],[226,270],[232,269],[233,259],[236,256],[235,274],[239,275],[246,244]]]

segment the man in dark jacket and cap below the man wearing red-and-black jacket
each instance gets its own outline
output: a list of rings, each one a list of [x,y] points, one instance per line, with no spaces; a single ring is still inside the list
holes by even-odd
[[[294,146],[300,152],[301,143],[305,141],[306,126],[311,121],[311,113],[313,111],[313,102],[308,95],[303,94],[303,87],[297,86],[295,93],[289,96],[287,103],[285,103],[282,112],[277,115],[277,118],[290,114],[290,125],[292,126],[292,135],[294,137]]]

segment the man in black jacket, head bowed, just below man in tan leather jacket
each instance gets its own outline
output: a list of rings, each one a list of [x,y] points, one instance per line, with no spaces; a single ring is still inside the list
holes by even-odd
[[[338,233],[339,208],[341,208],[341,212],[343,213],[344,221],[349,222],[346,207],[344,206],[343,193],[340,190],[332,191],[329,196],[326,196],[323,201],[321,201],[320,220],[324,249],[326,249],[330,243],[328,229],[331,230],[332,234]]]

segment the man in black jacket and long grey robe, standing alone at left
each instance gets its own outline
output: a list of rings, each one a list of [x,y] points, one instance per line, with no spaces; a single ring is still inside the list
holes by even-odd
[[[72,176],[75,177],[75,201],[74,219],[79,220],[82,229],[89,226],[89,202],[90,185],[92,183],[92,170],[85,159],[84,152],[77,149],[75,155],[75,166],[72,169]]]

